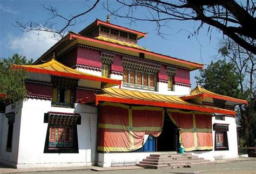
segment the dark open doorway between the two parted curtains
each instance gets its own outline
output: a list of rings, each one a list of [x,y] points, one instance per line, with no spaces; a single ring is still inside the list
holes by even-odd
[[[163,130],[156,141],[157,151],[177,151],[178,140],[178,128],[173,124],[169,115],[165,113]]]

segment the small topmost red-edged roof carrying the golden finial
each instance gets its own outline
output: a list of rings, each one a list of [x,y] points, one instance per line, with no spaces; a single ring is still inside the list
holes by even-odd
[[[137,39],[146,37],[146,33],[139,32],[139,31],[136,31],[136,30],[132,30],[130,28],[122,27],[122,26],[119,26],[119,25],[114,25],[114,24],[111,24],[111,23],[107,23],[107,22],[99,20],[99,19],[96,19],[92,24],[90,24],[89,26],[84,28],[84,30],[80,31],[79,34],[85,33],[86,31],[89,31],[89,30],[91,30],[92,28],[94,28],[98,25],[104,25],[104,26],[108,26],[108,27],[111,27],[111,28],[115,28],[117,30],[122,30],[122,31],[126,31],[126,32],[129,32],[129,33],[136,34]]]

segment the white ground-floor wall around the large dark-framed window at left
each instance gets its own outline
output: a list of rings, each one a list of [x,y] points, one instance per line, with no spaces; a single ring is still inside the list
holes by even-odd
[[[51,101],[37,99],[28,99],[24,102],[17,168],[86,166],[95,162],[96,107],[80,104],[75,106],[75,108],[51,107]],[[48,127],[48,124],[44,123],[44,113],[48,111],[81,114],[81,125],[77,125],[79,153],[44,154]]]

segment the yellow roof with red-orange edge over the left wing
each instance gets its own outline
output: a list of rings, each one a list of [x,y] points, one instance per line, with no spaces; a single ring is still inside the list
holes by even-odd
[[[77,79],[86,79],[89,81],[97,81],[105,83],[105,87],[121,85],[121,81],[116,79],[110,79],[106,77],[100,77],[95,75],[90,75],[87,73],[83,73],[81,71],[77,71],[75,69],[64,66],[64,64],[59,63],[55,59],[52,59],[49,62],[37,65],[17,65],[12,64],[11,68],[25,68],[30,73],[42,73],[42,74],[50,74],[54,76],[62,76],[68,78],[77,78]]]

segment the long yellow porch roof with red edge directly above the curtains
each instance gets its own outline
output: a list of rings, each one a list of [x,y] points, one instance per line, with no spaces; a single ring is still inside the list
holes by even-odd
[[[234,111],[192,104],[177,96],[159,95],[151,92],[140,92],[118,88],[105,88],[103,91],[105,92],[104,94],[96,95],[95,98],[82,99],[80,103],[87,103],[95,100],[96,105],[98,105],[99,102],[112,102],[235,115]]]

